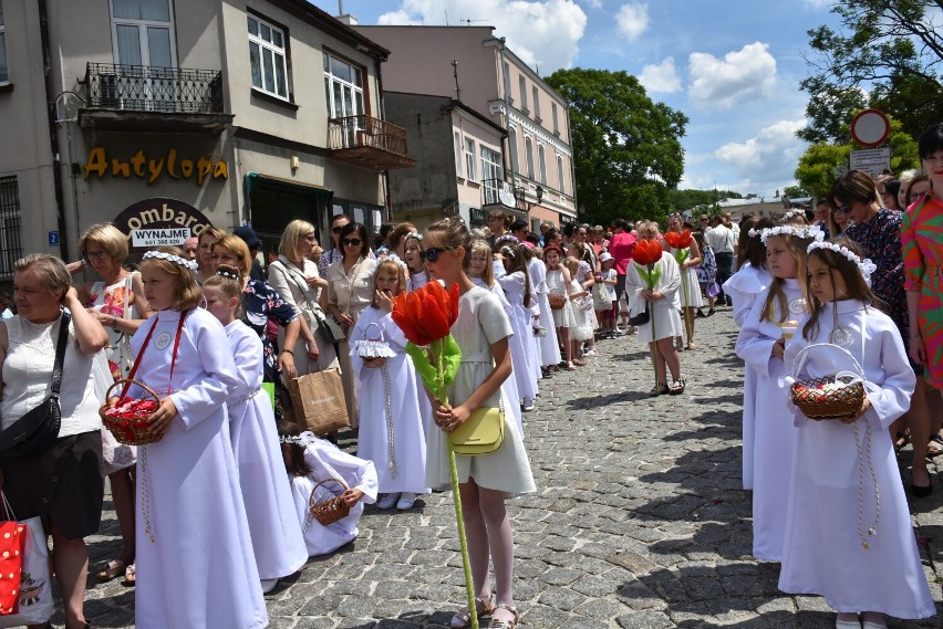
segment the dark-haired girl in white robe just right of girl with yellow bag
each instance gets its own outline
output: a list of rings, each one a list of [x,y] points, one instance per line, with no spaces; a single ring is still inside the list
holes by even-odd
[[[533,410],[538,391],[533,371],[533,361],[538,359],[538,355],[530,315],[530,277],[527,274],[522,254],[518,251],[519,247],[517,244],[501,247],[497,259],[504,266],[495,265],[495,281],[505,291],[505,296],[511,305],[511,328],[514,336],[521,340],[520,345],[517,343],[510,345],[511,365],[520,395],[520,406],[525,411],[529,411]]]

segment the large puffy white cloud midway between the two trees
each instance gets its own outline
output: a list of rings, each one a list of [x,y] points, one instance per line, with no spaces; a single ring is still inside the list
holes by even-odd
[[[754,42],[717,59],[706,52],[688,56],[687,95],[703,107],[729,109],[768,96],[776,87],[776,59],[769,44]]]

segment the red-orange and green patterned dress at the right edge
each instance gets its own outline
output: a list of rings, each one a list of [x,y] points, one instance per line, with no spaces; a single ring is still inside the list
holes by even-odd
[[[943,389],[943,200],[928,193],[910,206],[901,242],[904,289],[920,292],[916,316],[926,347],[926,381]]]

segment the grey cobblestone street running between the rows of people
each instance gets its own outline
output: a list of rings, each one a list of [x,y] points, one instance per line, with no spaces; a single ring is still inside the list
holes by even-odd
[[[541,380],[537,410],[525,415],[538,493],[509,503],[522,627],[833,627],[823,599],[784,595],[778,564],[750,557],[729,308],[696,328],[700,349],[682,355],[683,396],[649,398],[651,365],[632,337],[600,342],[587,367]],[[935,491],[918,503],[914,525],[939,607],[943,485],[931,471]],[[120,547],[105,506],[102,534],[89,539],[93,568]],[[89,587],[94,627],[133,626],[133,588],[94,575]],[[310,560],[266,599],[278,629],[447,627],[465,600],[450,495],[422,496],[405,513],[367,507],[353,544]],[[61,611],[53,620],[61,626]]]

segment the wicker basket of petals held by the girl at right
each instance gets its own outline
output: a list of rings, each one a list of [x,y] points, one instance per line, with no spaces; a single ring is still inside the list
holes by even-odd
[[[829,347],[843,352],[851,358],[858,374],[852,371],[839,371],[833,376],[823,378],[806,378],[795,380],[802,365],[806,363],[806,354],[814,347]],[[789,397],[796,408],[809,419],[842,419],[853,416],[864,401],[864,371],[858,360],[843,347],[829,343],[817,343],[808,345],[796,356],[792,368],[792,379],[789,386]]]

